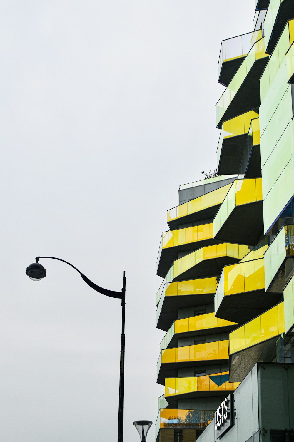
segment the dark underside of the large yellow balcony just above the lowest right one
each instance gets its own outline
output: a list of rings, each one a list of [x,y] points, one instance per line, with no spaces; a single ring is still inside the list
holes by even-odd
[[[277,304],[281,293],[265,293],[265,290],[226,295],[221,301],[217,318],[244,324]]]

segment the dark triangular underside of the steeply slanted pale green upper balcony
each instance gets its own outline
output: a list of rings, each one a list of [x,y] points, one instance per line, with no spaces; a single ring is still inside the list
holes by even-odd
[[[236,95],[231,101],[227,110],[218,122],[217,127],[221,129],[224,121],[236,117],[236,115],[244,114],[250,110],[256,110],[260,107],[260,76],[267,64],[268,58],[260,58],[256,60],[250,69],[241,87],[237,90]]]

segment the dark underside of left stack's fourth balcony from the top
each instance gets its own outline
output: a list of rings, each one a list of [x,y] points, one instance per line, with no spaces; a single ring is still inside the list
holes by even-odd
[[[178,319],[178,310],[198,305],[213,304],[214,293],[195,295],[165,296],[157,321],[157,328],[168,331],[173,321]]]

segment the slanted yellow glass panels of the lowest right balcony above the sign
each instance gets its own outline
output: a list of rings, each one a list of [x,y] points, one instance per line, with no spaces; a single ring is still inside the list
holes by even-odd
[[[284,302],[280,302],[230,333],[229,354],[243,351],[284,332]]]

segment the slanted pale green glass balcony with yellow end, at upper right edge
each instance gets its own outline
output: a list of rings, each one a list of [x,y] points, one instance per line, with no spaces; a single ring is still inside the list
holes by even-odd
[[[286,27],[283,30],[283,33],[279,37],[279,41],[277,46],[275,47],[273,53],[271,54],[271,58],[269,59],[262,76],[260,77],[260,99],[263,101],[264,97],[267,94],[267,91],[271,87],[271,84],[275,80],[275,76],[279,71],[280,66],[283,64],[283,61],[286,56],[287,63],[287,76],[288,79],[293,75],[291,70],[293,68],[293,49],[290,46],[294,42],[294,20],[290,20],[286,23]],[[289,50],[290,48],[290,50]]]

